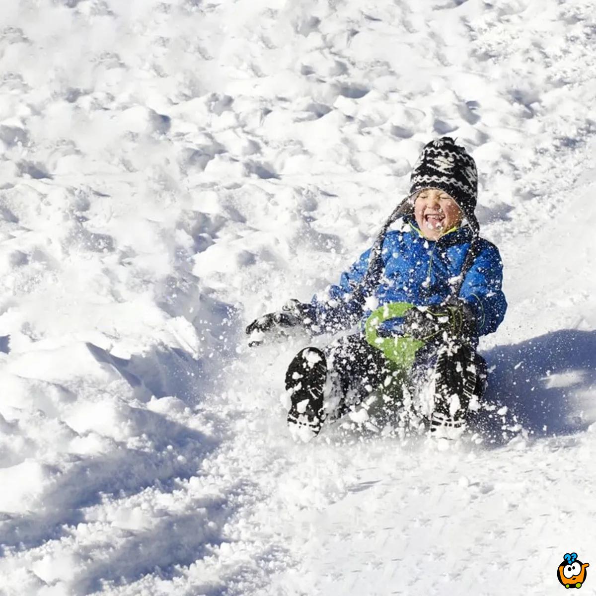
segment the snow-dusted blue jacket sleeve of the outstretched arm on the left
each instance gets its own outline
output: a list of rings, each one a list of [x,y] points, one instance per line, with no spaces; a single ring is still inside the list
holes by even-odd
[[[313,331],[327,333],[349,329],[364,314],[363,305],[354,296],[368,269],[370,249],[361,254],[353,265],[344,271],[339,284],[330,285],[321,296],[313,296]]]

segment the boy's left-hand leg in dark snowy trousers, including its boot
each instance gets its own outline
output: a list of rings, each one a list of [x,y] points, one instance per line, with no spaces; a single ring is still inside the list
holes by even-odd
[[[308,440],[318,434],[327,417],[346,414],[380,384],[389,389],[393,378],[383,353],[362,334],[342,337],[324,350],[300,350],[285,374],[290,429]]]

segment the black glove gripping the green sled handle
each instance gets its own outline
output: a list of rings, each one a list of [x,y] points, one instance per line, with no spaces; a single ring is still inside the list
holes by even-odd
[[[474,333],[475,327],[473,312],[462,300],[413,306],[403,315],[403,333],[424,341],[440,337],[443,333],[465,339]]]

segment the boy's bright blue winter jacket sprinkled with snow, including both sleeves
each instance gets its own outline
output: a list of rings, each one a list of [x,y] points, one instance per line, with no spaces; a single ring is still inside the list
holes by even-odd
[[[378,306],[390,302],[409,302],[418,306],[440,304],[452,294],[450,283],[455,283],[461,274],[472,238],[470,228],[464,226],[437,241],[427,240],[415,221],[406,216],[400,229],[387,232],[381,249],[383,273],[380,282],[367,289],[378,301]],[[477,334],[485,335],[501,324],[507,302],[501,290],[499,250],[483,238],[479,243],[476,259],[465,275],[458,297],[474,313]],[[369,257],[370,249],[342,273],[338,285],[328,288],[327,297],[313,297],[315,324],[321,331],[349,328],[358,319],[364,323],[370,315],[371,309],[353,296],[367,271]],[[381,333],[398,329],[396,322],[386,321],[383,325]]]

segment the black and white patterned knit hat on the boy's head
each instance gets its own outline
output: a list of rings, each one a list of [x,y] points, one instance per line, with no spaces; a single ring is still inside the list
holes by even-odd
[[[474,232],[480,226],[474,209],[478,194],[478,173],[472,156],[450,136],[424,146],[410,178],[410,194],[424,188],[438,188],[454,198]]]

